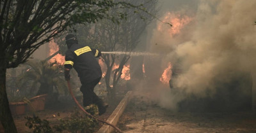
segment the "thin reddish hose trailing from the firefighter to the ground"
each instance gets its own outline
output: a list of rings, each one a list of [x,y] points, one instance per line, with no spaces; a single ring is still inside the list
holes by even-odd
[[[79,102],[76,100],[76,97],[74,96],[74,94],[73,94],[73,92],[72,92],[72,89],[71,89],[69,80],[68,80],[67,82],[68,82],[68,90],[69,90],[69,92],[70,92],[72,98],[73,98],[74,101],[76,102],[77,106],[78,106],[80,109],[82,109],[82,111],[83,111],[84,113],[86,113],[86,115],[88,115],[88,116],[90,116],[90,117],[92,117],[92,118],[95,118],[95,119],[98,120],[99,122],[106,123],[106,124],[110,125],[111,127],[113,127],[114,129],[116,129],[118,132],[121,132],[121,133],[122,133],[122,130],[118,129],[118,127],[116,127],[115,125],[113,125],[113,124],[111,124],[111,123],[108,123],[108,122],[105,122],[104,120],[101,120],[100,118],[97,118],[97,117],[91,115],[90,113],[88,113],[88,112],[83,108],[83,106],[81,106],[81,104],[79,104]]]

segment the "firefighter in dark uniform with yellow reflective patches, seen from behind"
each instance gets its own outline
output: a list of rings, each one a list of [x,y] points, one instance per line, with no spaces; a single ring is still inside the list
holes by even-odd
[[[81,81],[81,92],[83,93],[83,106],[90,108],[96,104],[99,109],[99,115],[106,112],[108,104],[102,101],[94,92],[94,87],[99,83],[102,77],[97,57],[101,52],[90,46],[78,45],[77,38],[74,34],[68,34],[65,37],[68,47],[65,53],[65,80],[70,80],[70,69],[74,67]]]

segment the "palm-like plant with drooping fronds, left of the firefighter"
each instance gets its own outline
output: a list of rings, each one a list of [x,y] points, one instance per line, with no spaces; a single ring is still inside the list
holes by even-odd
[[[52,94],[55,90],[58,94],[67,94],[67,83],[63,79],[63,66],[55,62],[30,61],[27,63],[30,69],[24,72],[18,79],[19,86],[31,81],[31,89],[36,88],[38,83],[40,88],[37,95]]]

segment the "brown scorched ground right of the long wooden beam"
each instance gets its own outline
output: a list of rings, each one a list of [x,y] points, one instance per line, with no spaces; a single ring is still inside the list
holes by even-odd
[[[124,132],[256,132],[256,113],[216,112],[189,113],[174,112],[145,100],[132,97],[118,122]]]

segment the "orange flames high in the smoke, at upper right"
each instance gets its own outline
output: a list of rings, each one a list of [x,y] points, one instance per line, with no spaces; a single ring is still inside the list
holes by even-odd
[[[186,15],[180,15],[179,13],[171,13],[167,12],[163,18],[163,22],[168,22],[172,24],[172,28],[166,28],[163,23],[159,23],[157,26],[158,31],[168,31],[171,37],[175,36],[176,34],[180,33],[180,30],[189,22],[191,22],[192,18]],[[167,25],[166,25],[167,26]],[[168,25],[170,26],[170,25]]]

